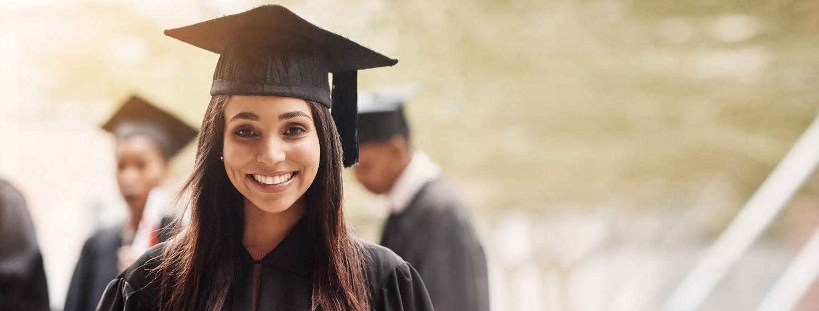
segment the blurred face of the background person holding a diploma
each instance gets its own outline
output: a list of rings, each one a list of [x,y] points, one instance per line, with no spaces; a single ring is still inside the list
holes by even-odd
[[[151,138],[135,135],[116,144],[116,182],[131,210],[142,210],[151,189],[167,174],[167,161]]]

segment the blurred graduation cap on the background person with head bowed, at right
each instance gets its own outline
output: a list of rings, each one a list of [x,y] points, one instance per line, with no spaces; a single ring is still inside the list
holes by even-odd
[[[382,142],[393,136],[409,138],[404,104],[421,92],[418,83],[359,93],[359,142]]]

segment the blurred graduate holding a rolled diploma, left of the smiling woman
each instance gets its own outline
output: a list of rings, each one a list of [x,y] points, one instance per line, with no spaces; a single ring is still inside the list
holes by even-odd
[[[152,227],[148,247],[167,239],[170,218],[156,223],[149,211],[163,208],[156,206],[156,197],[161,194],[156,187],[165,178],[168,161],[197,135],[196,129],[136,96],[125,101],[102,128],[116,138],[117,183],[128,204],[129,219],[94,232],[85,241],[64,311],[97,307],[108,282],[142,255],[131,247],[139,226]]]

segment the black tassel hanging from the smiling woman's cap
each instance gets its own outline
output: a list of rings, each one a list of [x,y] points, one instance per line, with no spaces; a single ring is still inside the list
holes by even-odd
[[[333,73],[333,109],[344,167],[358,163],[358,71]]]

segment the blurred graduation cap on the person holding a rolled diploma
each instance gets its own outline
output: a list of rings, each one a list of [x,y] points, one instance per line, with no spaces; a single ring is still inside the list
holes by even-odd
[[[151,137],[165,159],[176,155],[198,134],[196,129],[136,95],[125,101],[102,128],[118,138],[137,134]]]

